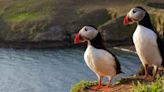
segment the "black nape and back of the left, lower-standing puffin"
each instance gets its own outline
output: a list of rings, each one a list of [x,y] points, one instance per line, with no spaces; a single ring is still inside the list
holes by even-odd
[[[91,45],[97,49],[103,49],[103,50],[106,50],[108,51],[110,54],[112,54],[112,56],[115,58],[115,61],[116,61],[116,74],[118,73],[122,73],[121,71],[121,66],[120,66],[120,63],[117,59],[117,57],[112,53],[110,52],[108,49],[105,48],[104,44],[103,44],[103,39],[101,37],[101,34],[98,33],[97,36],[91,40]]]

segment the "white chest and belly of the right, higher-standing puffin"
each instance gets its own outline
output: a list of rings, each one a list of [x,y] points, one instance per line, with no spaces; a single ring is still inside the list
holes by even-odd
[[[138,25],[133,34],[133,42],[143,64],[161,65],[157,35],[152,30]]]

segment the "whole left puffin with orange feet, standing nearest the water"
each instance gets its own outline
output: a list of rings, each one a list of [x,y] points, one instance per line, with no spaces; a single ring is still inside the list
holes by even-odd
[[[103,87],[102,78],[104,77],[109,80],[106,86],[109,88],[112,78],[121,73],[118,59],[105,48],[100,32],[93,25],[84,26],[74,38],[74,44],[85,42],[87,42],[87,48],[84,53],[84,60],[98,78],[96,89]]]

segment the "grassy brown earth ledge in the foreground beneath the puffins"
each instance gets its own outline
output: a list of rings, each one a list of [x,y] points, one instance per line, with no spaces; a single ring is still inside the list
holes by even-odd
[[[70,92],[90,92],[89,87],[96,84],[96,82],[82,80],[75,84]],[[111,92],[164,92],[163,85],[164,77],[160,77],[159,74],[154,82],[146,81],[139,76],[129,76],[117,81],[110,90]]]

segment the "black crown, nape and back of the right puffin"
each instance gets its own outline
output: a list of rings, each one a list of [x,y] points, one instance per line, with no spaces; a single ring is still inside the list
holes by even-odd
[[[158,48],[160,50],[160,54],[161,54],[161,57],[162,57],[162,66],[164,66],[164,42],[161,40],[161,38],[160,38],[159,34],[157,33],[157,31],[154,30],[154,27],[153,27],[153,25],[151,23],[151,20],[150,20],[150,16],[147,13],[147,11],[144,8],[140,7],[140,6],[138,6],[136,8],[140,8],[140,9],[142,9],[146,12],[145,17],[141,21],[139,21],[138,24],[142,25],[146,28],[149,28],[153,32],[156,33],[156,35],[157,35],[157,44],[158,44]]]

